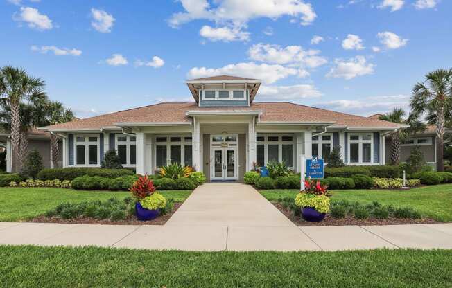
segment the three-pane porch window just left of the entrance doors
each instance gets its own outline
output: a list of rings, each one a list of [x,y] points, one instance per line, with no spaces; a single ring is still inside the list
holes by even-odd
[[[193,165],[191,136],[157,136],[155,137],[155,167],[179,163]]]

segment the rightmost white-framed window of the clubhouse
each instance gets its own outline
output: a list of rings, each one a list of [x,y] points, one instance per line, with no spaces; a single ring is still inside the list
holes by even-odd
[[[370,164],[373,163],[372,133],[358,133],[349,135],[349,163]]]

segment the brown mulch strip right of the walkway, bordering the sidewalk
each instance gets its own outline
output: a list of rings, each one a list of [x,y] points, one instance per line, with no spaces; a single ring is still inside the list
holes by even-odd
[[[281,213],[283,213],[290,221],[292,221],[297,226],[348,226],[348,225],[398,225],[398,224],[432,224],[432,223],[442,223],[437,222],[431,218],[422,219],[399,219],[394,217],[389,217],[388,219],[376,219],[367,218],[364,220],[356,219],[352,216],[345,216],[344,218],[333,218],[331,215],[327,214],[327,217],[321,222],[308,222],[305,221],[301,216],[297,217],[293,215],[290,208],[284,208],[281,203],[272,202],[276,208],[278,208]]]

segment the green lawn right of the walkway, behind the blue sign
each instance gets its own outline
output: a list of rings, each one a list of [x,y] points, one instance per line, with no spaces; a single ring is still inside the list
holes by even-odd
[[[275,201],[281,197],[295,197],[298,190],[261,190],[263,197]],[[331,190],[332,200],[346,199],[370,203],[412,207],[426,217],[437,221],[452,221],[452,184],[425,186],[406,191],[399,190]]]

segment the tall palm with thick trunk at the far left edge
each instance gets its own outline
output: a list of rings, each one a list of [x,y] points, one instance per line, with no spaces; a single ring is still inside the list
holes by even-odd
[[[11,156],[12,171],[20,169],[20,103],[22,100],[36,100],[45,98],[44,80],[29,76],[24,69],[4,66],[0,69],[0,92],[3,105],[11,109]]]

